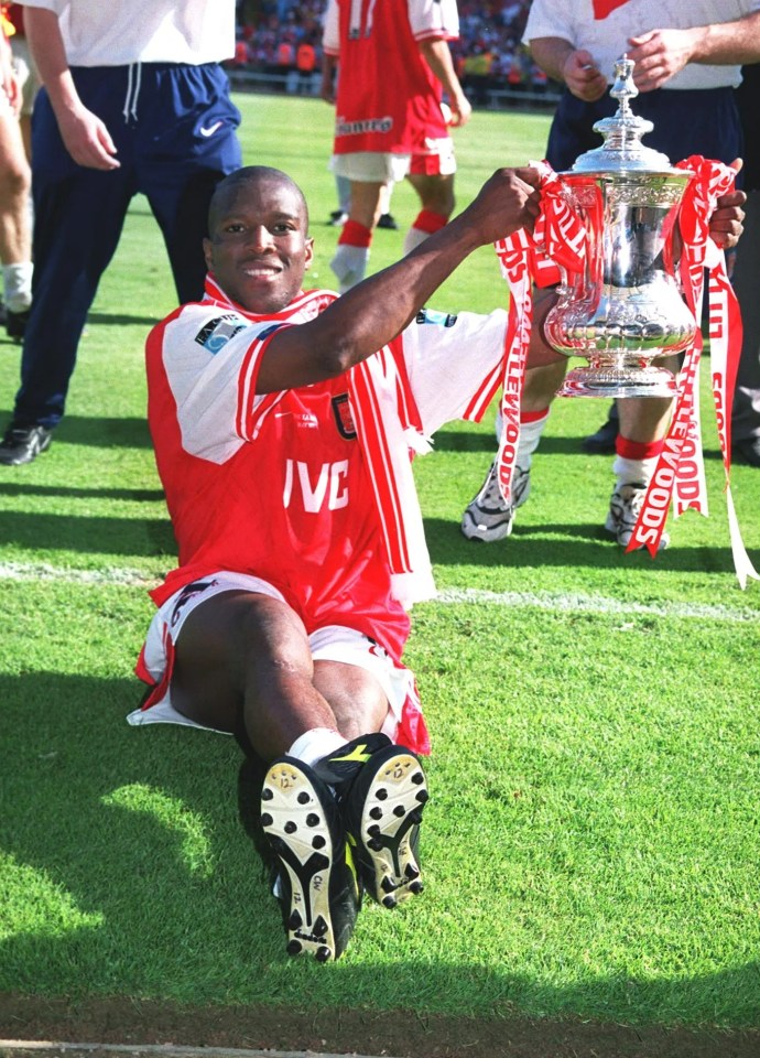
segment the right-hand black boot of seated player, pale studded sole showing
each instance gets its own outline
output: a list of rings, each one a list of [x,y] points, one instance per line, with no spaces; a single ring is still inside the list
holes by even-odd
[[[422,893],[417,846],[428,796],[416,756],[391,745],[372,754],[343,798],[361,881],[383,907]]]

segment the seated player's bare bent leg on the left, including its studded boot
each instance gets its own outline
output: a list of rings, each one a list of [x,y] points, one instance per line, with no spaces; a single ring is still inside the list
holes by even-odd
[[[249,758],[238,787],[241,817],[258,814],[251,836],[260,852],[265,838],[269,862],[273,854],[289,953],[338,958],[354,930],[361,886],[340,805],[312,767],[346,744],[316,683],[329,692],[348,680],[356,723],[370,731],[388,711],[384,695],[370,673],[351,666],[339,672],[322,665],[316,672],[303,623],[268,595],[230,591],[202,602],[184,619],[175,649],[175,708],[227,731],[242,720],[239,741]],[[338,712],[348,708],[341,697]]]

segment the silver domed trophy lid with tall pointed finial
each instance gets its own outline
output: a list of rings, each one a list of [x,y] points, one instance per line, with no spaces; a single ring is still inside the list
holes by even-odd
[[[680,172],[671,165],[666,154],[644,147],[641,142],[641,137],[651,132],[654,126],[631,111],[630,100],[639,95],[639,89],[633,84],[634,65],[633,61],[625,55],[616,62],[615,84],[609,94],[619,100],[617,114],[596,122],[594,131],[601,133],[605,142],[601,147],[580,154],[571,170],[572,173]]]

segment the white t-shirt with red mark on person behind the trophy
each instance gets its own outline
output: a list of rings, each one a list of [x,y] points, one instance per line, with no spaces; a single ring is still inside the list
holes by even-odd
[[[595,11],[611,3],[600,0],[533,0],[523,43],[558,36],[573,47],[590,52],[611,84],[615,63],[626,52],[631,36],[650,30],[688,30],[695,25],[734,22],[760,11],[760,0],[621,0],[606,17]],[[664,88],[736,88],[741,82],[738,65],[691,63]]]

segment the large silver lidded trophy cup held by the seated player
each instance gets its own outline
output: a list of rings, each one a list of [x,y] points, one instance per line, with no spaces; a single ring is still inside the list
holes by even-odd
[[[588,360],[567,373],[561,397],[672,397],[675,378],[651,361],[687,348],[696,333],[670,261],[692,176],[641,143],[654,126],[631,112],[632,73],[618,60],[618,111],[594,126],[604,143],[558,174],[588,233],[585,268],[565,273],[544,325],[555,349]]]

